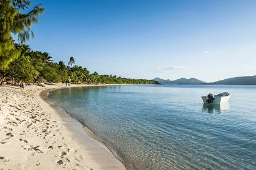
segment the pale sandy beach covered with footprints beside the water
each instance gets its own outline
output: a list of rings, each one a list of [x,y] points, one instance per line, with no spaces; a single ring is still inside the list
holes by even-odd
[[[39,96],[61,87],[0,86],[0,169],[125,169],[81,124]]]

